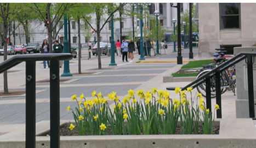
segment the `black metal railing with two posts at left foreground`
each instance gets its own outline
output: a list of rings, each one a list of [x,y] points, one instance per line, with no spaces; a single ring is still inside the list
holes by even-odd
[[[26,62],[26,148],[36,147],[36,61],[50,61],[50,147],[60,147],[60,69],[59,60],[70,53],[15,55],[0,63],[0,73]]]

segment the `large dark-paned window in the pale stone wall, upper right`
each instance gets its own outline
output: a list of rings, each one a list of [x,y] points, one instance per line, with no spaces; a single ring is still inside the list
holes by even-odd
[[[220,3],[220,29],[240,29],[240,3]]]

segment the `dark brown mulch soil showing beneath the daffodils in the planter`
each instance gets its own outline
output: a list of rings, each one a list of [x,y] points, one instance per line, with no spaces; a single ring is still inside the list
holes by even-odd
[[[109,126],[107,128],[111,128],[111,127]],[[219,134],[219,129],[220,129],[219,124],[214,125],[213,134]],[[176,128],[175,134],[181,134],[181,129],[180,129],[179,125]],[[196,132],[193,132],[193,134],[196,134]],[[202,126],[199,126],[198,134],[203,134]],[[72,131],[70,131],[69,124],[63,124],[60,127],[60,135],[61,136],[74,136],[74,135],[79,135],[79,134],[78,134],[78,130],[77,130],[76,127]],[[160,133],[157,133],[157,135],[160,135]],[[45,133],[43,133],[42,135],[39,135],[39,136],[50,136],[50,132],[49,131],[45,132]]]

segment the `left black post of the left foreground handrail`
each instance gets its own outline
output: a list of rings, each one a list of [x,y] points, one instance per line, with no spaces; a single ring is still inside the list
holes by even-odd
[[[26,148],[36,147],[36,61],[26,61]]]

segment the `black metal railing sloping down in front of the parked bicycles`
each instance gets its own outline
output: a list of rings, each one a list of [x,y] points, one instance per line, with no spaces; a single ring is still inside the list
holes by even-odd
[[[211,78],[215,76],[215,93],[216,93],[216,104],[219,105],[220,109],[217,110],[217,118],[221,118],[221,86],[220,86],[220,75],[221,72],[234,66],[242,60],[246,61],[247,64],[247,79],[248,79],[248,99],[249,99],[249,117],[255,118],[254,112],[254,88],[253,88],[253,63],[255,62],[256,53],[242,52],[234,56],[233,58],[225,61],[223,64],[215,67],[213,70],[205,73],[200,78],[187,84],[187,86],[181,88],[181,90],[192,87],[193,89],[202,83],[206,83],[206,107],[212,111],[211,105]],[[174,90],[175,87],[167,87],[167,90]]]

